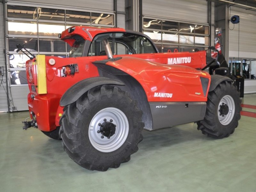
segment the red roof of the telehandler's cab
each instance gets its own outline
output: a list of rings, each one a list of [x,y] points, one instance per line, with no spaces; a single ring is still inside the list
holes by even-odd
[[[97,28],[97,27],[88,27],[88,26],[74,26],[75,28],[73,32],[68,33],[68,29],[61,33],[61,40],[68,39],[74,35],[80,35],[85,40],[92,41],[92,39],[100,33],[107,33],[107,32],[125,32],[123,28]]]

